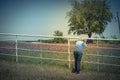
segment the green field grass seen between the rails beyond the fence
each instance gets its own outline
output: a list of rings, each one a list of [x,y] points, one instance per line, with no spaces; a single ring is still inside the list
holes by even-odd
[[[82,57],[81,69],[88,71],[99,71],[107,72],[107,73],[120,73],[119,66],[109,66],[109,65],[98,65],[98,64],[90,64],[84,63],[84,61],[89,62],[97,62],[99,58],[100,63],[109,63],[109,64],[118,64],[120,65],[120,58],[109,58],[103,56],[86,56],[86,54],[95,54],[97,55],[97,51],[99,51],[99,55],[112,55],[112,56],[120,56],[120,50],[106,50],[106,49],[96,49],[96,48],[88,48],[87,52],[84,52]],[[73,50],[71,50],[70,58],[73,60]],[[13,52],[14,53],[14,52]],[[18,55],[22,56],[31,56],[31,57],[42,57],[42,58],[54,58],[54,59],[62,59],[68,60],[68,53],[56,53],[56,52],[41,52],[41,51],[26,51],[26,50],[18,50]],[[4,56],[0,55],[0,60],[6,60],[9,62],[15,62],[15,56]],[[41,59],[41,58],[30,58],[30,57],[18,57],[18,63],[25,64],[39,64],[39,65],[49,65],[55,67],[68,68],[68,61],[59,61],[59,60],[51,60],[51,59]],[[73,62],[71,61],[71,69],[73,68]]]

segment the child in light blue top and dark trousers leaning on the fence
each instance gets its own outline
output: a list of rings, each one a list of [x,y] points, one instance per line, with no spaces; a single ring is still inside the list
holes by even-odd
[[[83,49],[84,47],[87,47],[86,43],[83,41],[83,38],[80,37],[79,40],[75,44],[74,48],[74,70],[73,73],[80,73],[80,64],[81,64],[81,58],[83,55]]]

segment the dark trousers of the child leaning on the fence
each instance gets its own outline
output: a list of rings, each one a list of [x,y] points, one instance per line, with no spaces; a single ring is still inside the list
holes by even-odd
[[[75,59],[75,72],[80,72],[80,63],[81,63],[82,53],[78,51],[74,51],[74,59]]]

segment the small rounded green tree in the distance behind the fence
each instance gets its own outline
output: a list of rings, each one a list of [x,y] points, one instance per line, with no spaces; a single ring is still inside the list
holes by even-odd
[[[56,31],[54,31],[53,35],[54,36],[63,36],[63,32],[61,32],[59,30],[56,30]],[[67,40],[63,39],[63,38],[54,38],[53,42],[55,42],[55,43],[65,43],[65,42],[67,42]]]

